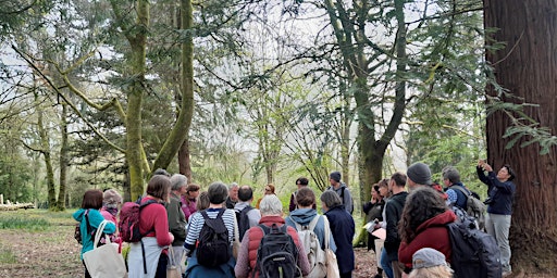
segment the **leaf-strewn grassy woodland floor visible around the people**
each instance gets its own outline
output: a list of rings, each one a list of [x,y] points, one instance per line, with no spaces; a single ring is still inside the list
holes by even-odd
[[[0,216],[2,216],[1,213]],[[70,214],[67,213],[67,216]],[[51,226],[41,231],[0,229],[0,278],[83,277],[81,245],[73,238],[73,219],[50,218]],[[376,274],[375,254],[357,248],[357,269],[352,277]],[[557,275],[516,274],[513,277],[557,277]]]

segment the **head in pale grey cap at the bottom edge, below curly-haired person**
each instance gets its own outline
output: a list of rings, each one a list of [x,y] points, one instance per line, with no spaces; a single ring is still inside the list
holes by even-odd
[[[409,278],[451,278],[453,269],[445,255],[432,248],[422,248],[412,255],[412,271]]]

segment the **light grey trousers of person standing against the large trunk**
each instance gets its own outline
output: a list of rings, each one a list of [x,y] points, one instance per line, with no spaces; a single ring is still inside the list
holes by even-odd
[[[503,271],[510,271],[510,244],[509,229],[510,215],[488,213],[485,216],[485,230],[497,241],[500,252],[500,264]]]

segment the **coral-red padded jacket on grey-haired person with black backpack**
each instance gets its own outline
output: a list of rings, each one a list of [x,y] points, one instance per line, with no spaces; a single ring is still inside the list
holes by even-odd
[[[273,224],[276,224],[278,227],[285,225],[284,219],[281,216],[263,216],[259,224],[263,224],[268,227],[271,227]],[[309,274],[309,262],[308,257],[305,255],[306,251],[304,250],[304,245],[299,241],[298,233],[292,227],[287,227],[287,232],[294,240],[294,243],[298,248],[298,267],[301,270],[304,276]],[[263,231],[259,227],[251,227],[244,235],[244,239],[242,240],[242,245],[238,251],[238,260],[236,261],[236,266],[234,267],[234,273],[237,278],[251,277],[251,271],[256,267],[257,263],[257,251],[259,244],[261,243],[261,239],[263,239]],[[259,277],[259,274],[256,274],[256,277]]]

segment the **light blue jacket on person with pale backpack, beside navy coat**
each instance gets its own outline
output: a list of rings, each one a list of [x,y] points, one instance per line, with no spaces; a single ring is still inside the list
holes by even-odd
[[[290,213],[290,216],[286,217],[284,220],[286,225],[293,227],[296,229],[296,223],[301,226],[308,226],[311,220],[313,220],[313,217],[319,216],[318,212],[313,208],[298,208]],[[323,220],[323,217],[321,217],[318,220],[318,224],[315,225],[315,228],[313,229],[313,232],[318,237],[319,244],[321,244],[321,249],[325,249],[325,223]],[[336,244],[335,239],[333,237],[333,232],[330,232],[329,237],[329,249],[333,250],[333,252],[336,252]]]

